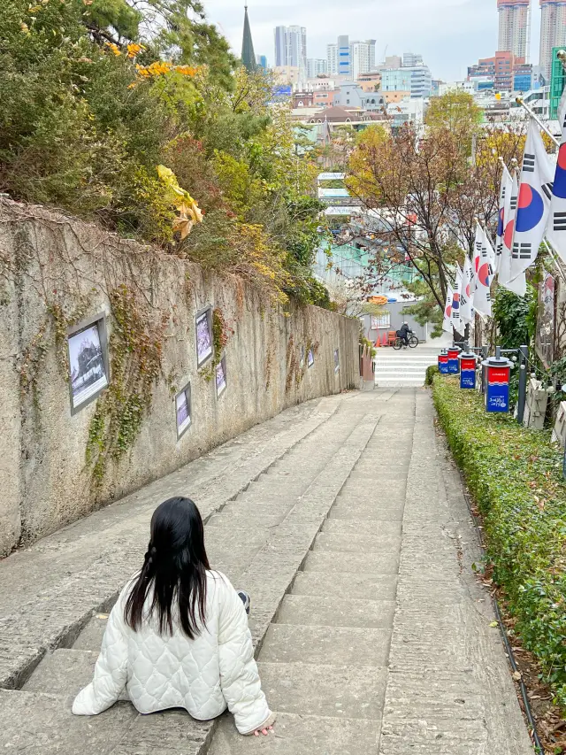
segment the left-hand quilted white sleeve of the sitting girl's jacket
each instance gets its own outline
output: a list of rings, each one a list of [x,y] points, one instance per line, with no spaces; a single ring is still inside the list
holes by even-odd
[[[127,643],[124,634],[122,601],[112,608],[103,636],[103,645],[96,661],[92,682],[80,690],[73,703],[73,713],[94,716],[110,708],[126,686]]]

